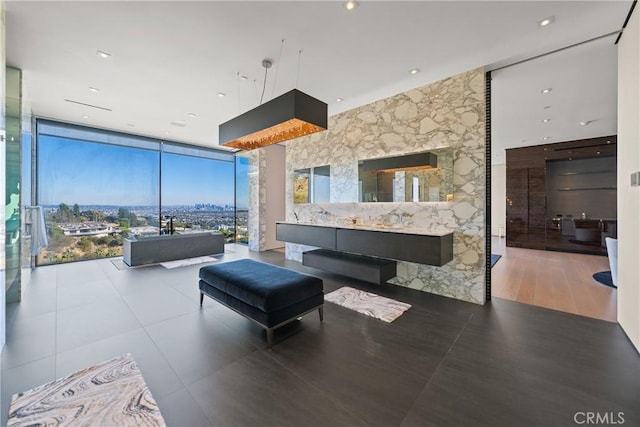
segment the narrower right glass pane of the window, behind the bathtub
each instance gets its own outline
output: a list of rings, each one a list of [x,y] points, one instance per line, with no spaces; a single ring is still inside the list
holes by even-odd
[[[233,162],[163,152],[161,188],[163,233],[215,230],[234,241]]]

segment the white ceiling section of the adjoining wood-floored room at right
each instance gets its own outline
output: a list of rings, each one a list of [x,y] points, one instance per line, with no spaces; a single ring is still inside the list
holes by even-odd
[[[492,164],[505,162],[506,148],[617,133],[615,40],[605,37],[492,72]]]

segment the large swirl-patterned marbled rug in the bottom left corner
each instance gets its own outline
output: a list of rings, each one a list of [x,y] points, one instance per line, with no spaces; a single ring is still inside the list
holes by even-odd
[[[7,427],[165,426],[130,354],[14,394]]]

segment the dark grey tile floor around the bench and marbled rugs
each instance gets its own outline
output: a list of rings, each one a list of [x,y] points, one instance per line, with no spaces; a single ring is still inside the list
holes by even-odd
[[[199,266],[45,267],[10,310],[3,419],[7,393],[129,351],[167,423],[181,427],[573,426],[582,412],[622,412],[625,425],[640,425],[640,357],[615,323],[369,285],[276,251],[249,256],[321,276],[325,292],[349,285],[412,308],[388,324],[326,303],[322,324],[308,315],[276,331],[266,350],[246,319],[210,299],[199,308]],[[99,322],[105,305],[120,320]]]

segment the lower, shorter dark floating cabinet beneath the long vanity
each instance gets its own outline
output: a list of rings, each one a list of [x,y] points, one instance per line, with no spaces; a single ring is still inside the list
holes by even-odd
[[[328,249],[304,252],[302,264],[379,285],[396,277],[396,262],[393,260]]]

